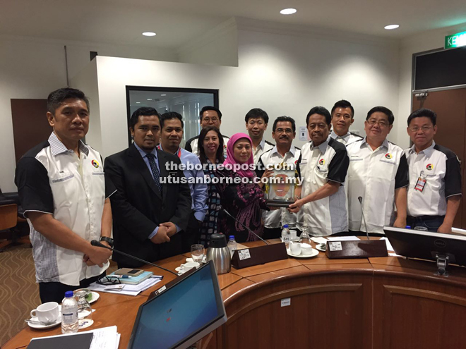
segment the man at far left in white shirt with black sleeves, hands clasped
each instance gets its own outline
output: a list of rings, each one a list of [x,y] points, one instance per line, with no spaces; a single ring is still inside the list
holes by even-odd
[[[18,161],[15,183],[30,226],[35,276],[42,302],[61,302],[67,290],[87,287],[109,266],[112,184],[100,154],[81,139],[88,133],[89,102],[80,90],[49,94],[49,140]],[[106,185],[107,184],[107,185]]]

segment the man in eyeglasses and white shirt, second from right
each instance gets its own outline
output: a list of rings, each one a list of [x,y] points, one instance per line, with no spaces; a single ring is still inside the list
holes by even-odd
[[[390,109],[375,106],[364,121],[366,137],[347,146],[349,231],[383,234],[383,226],[406,226],[408,166],[405,152],[387,140],[393,121]]]

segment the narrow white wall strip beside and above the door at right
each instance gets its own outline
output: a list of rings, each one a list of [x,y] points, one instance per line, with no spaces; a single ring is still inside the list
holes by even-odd
[[[453,27],[444,27],[438,30],[430,30],[418,35],[412,35],[402,40],[400,43],[400,86],[398,117],[402,123],[398,123],[398,144],[400,147],[410,146],[410,137],[406,132],[406,120],[411,114],[412,99],[412,55],[419,52],[441,49],[445,44],[447,35],[455,34],[466,30],[466,23]]]

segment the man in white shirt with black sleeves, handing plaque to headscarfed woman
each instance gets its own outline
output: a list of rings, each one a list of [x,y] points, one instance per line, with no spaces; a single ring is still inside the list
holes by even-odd
[[[343,188],[348,169],[345,145],[330,137],[330,113],[315,106],[306,117],[311,142],[301,148],[297,162],[303,183],[297,188],[297,201],[289,205],[298,212],[298,228],[314,236],[347,231],[346,195]]]

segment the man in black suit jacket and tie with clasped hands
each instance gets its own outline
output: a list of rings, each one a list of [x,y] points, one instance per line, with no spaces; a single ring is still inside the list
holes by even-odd
[[[117,188],[111,197],[114,247],[149,262],[179,255],[183,234],[177,233],[186,229],[191,214],[189,185],[161,182],[169,176],[184,178],[181,162],[156,147],[160,115],[155,109],[136,110],[130,131],[134,143],[105,161],[106,179]],[[117,253],[112,258],[120,268],[142,265]]]

